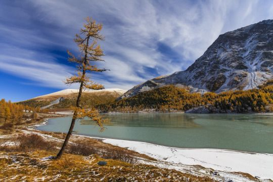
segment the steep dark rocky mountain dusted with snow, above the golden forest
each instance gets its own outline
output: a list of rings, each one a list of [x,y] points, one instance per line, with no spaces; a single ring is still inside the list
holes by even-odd
[[[134,86],[121,98],[174,84],[191,92],[251,89],[273,78],[273,20],[226,32],[187,70]]]

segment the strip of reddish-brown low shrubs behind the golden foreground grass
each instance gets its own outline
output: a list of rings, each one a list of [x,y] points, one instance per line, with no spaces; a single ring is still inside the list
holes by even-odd
[[[12,144],[12,145],[10,145]],[[60,142],[47,141],[42,136],[37,134],[19,134],[16,138],[10,139],[8,142],[0,141],[0,151],[5,152],[32,152],[35,150],[45,150],[58,152],[58,147],[61,146]],[[136,157],[129,150],[111,149],[111,148],[94,148],[87,143],[81,144],[68,144],[65,153],[75,154],[81,156],[90,156],[97,154],[104,159],[114,159],[123,162],[135,164],[138,162]]]

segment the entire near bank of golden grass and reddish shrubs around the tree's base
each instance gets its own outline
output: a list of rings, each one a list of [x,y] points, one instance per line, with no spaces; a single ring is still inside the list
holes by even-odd
[[[133,151],[111,149],[110,145],[94,148],[87,141],[70,144],[60,160],[43,160],[56,155],[61,143],[37,134],[19,134],[2,140],[0,181],[212,181],[208,177],[136,164]],[[13,145],[3,145],[7,142]],[[102,160],[107,165],[97,164]]]

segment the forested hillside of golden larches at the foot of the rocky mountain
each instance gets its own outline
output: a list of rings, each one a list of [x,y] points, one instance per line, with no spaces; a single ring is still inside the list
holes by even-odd
[[[259,89],[203,95],[170,85],[102,104],[98,108],[101,112],[177,112],[198,107],[205,107],[206,113],[272,112],[273,85],[269,81]]]

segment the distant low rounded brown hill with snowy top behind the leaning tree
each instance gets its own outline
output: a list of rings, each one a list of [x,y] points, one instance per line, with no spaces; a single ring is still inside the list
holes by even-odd
[[[19,102],[31,107],[44,107],[51,103],[54,105],[50,108],[70,108],[74,106],[77,99],[78,89],[64,89],[59,92],[38,96],[33,99]],[[91,107],[99,104],[106,104],[115,101],[118,97],[125,93],[125,90],[118,88],[103,89],[103,90],[84,90],[81,98],[81,103],[83,107]],[[61,102],[56,102],[56,100],[61,99]]]

